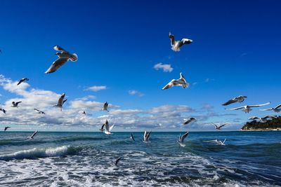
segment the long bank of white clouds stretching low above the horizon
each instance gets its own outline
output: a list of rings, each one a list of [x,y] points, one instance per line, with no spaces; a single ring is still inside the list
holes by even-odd
[[[22,129],[26,125],[34,125],[36,129],[42,127],[50,130],[61,130],[62,128],[63,130],[70,130],[71,127],[79,127],[79,130],[83,130],[84,127],[89,127],[95,131],[107,119],[110,124],[115,123],[116,129],[119,130],[155,129],[177,131],[185,130],[182,125],[183,118],[192,116],[197,118],[197,123],[191,126],[192,129],[213,130],[214,127],[209,124],[210,121],[216,122],[216,120],[221,120],[224,116],[237,118],[237,116],[230,113],[220,114],[211,111],[202,113],[202,111],[197,111],[186,105],[162,105],[141,110],[120,109],[119,106],[110,104],[109,112],[106,112],[100,111],[103,108],[103,102],[91,100],[95,99],[92,95],[67,100],[63,111],[60,111],[60,109],[52,106],[58,102],[61,93],[30,88],[31,86],[28,83],[22,83],[17,86],[16,83],[17,81],[12,81],[0,75],[0,86],[15,95],[6,100],[3,108],[7,112],[6,114],[0,113],[0,121],[1,124],[11,125],[12,127],[13,125],[22,125]],[[18,108],[13,108],[11,107],[12,101],[22,101],[22,103]],[[40,115],[33,110],[34,108],[44,111],[46,115]],[[89,115],[81,114],[83,110]],[[235,128],[238,125],[229,125],[229,127]]]

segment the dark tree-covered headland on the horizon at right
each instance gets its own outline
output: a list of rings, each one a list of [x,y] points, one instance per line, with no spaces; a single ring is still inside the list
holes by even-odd
[[[267,120],[264,123],[261,123],[256,120],[247,122],[241,130],[243,131],[265,131],[265,130],[281,130],[281,116],[273,120]]]

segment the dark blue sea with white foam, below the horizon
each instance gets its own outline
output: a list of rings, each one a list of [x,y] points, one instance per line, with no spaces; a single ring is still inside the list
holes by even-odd
[[[0,186],[281,186],[281,132],[30,134],[0,132]]]

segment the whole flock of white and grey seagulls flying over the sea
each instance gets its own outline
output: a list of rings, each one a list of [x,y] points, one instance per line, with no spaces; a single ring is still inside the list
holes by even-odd
[[[176,41],[175,36],[171,33],[169,33],[169,39],[171,40],[171,50],[174,50],[176,52],[180,51],[180,48],[183,47],[186,44],[190,44],[193,41],[191,39],[181,39],[180,41]],[[58,51],[57,53],[55,53],[55,55],[58,56],[58,59],[55,60],[53,62],[53,64],[51,64],[51,67],[49,67],[46,71],[45,74],[51,74],[55,71],[57,71],[58,69],[60,69],[60,67],[63,67],[63,65],[67,62],[67,61],[72,61],[72,62],[77,62],[78,60],[78,56],[75,53],[70,53],[67,50],[61,48],[60,46],[54,46],[53,47],[54,50]],[[1,52],[1,50],[0,50]],[[17,85],[20,85],[21,83],[25,82],[25,81],[29,81],[29,78],[22,78],[20,79],[20,81],[18,81]],[[182,73],[180,73],[180,78],[178,79],[172,79],[169,83],[167,83],[162,90],[166,90],[169,88],[172,88],[174,86],[181,86],[182,88],[188,88],[190,84],[185,80],[185,77],[183,76]],[[244,102],[244,99],[246,99],[247,96],[237,96],[234,97],[233,99],[229,99],[227,102],[223,103],[223,106],[228,106],[230,104],[234,104],[236,102],[242,103]],[[65,99],[65,93],[63,93],[60,98],[58,99],[58,103],[55,104],[55,107],[60,108],[60,111],[63,110],[63,104],[67,101],[67,99]],[[12,102],[13,106],[12,107],[18,107],[18,104],[20,104],[21,102]],[[249,113],[249,111],[251,111],[251,108],[254,107],[259,107],[259,106],[266,106],[270,104],[270,102],[266,103],[266,104],[257,104],[257,105],[245,105],[245,106],[240,106],[237,108],[233,108],[233,109],[226,109],[226,110],[242,110],[245,113]],[[102,111],[107,111],[108,110],[108,102],[105,102],[103,104],[103,109],[101,109]],[[0,111],[2,111],[3,113],[6,113],[5,109],[1,109]],[[40,111],[39,109],[34,109],[34,111],[37,111],[37,113],[40,114],[45,114],[44,111]],[[280,112],[281,111],[281,104],[275,106],[274,108],[269,108],[269,109],[261,109],[261,111],[274,111],[274,112]],[[83,111],[82,114],[86,115],[86,111]],[[249,120],[260,120],[261,122],[265,122],[267,119],[273,119],[273,118],[277,118],[277,116],[265,116],[263,118],[259,118],[256,116],[252,116],[251,118],[249,118]],[[195,122],[196,119],[195,118],[188,118],[188,119],[184,119],[184,123],[183,125],[188,125],[192,122]],[[212,125],[214,125],[214,127],[216,128],[216,130],[221,130],[222,127],[228,125],[228,123],[222,123],[222,124],[215,124],[212,123]],[[100,131],[104,132],[105,134],[109,135],[111,134],[112,128],[115,126],[115,124],[113,125],[109,125],[108,120],[105,120],[105,123],[100,127]],[[5,127],[4,131],[8,130],[8,128],[11,127]],[[37,134],[38,130],[35,131],[30,137],[30,139],[34,139],[34,136]],[[143,142],[148,143],[149,139],[150,139],[150,134],[151,131],[146,131],[143,134]],[[179,136],[178,138],[178,144],[180,146],[185,146],[184,144],[184,140],[186,137],[188,137],[189,132],[185,132],[185,134]],[[133,137],[133,134],[131,133],[131,137],[130,137],[133,141],[136,141],[135,138]],[[217,139],[215,140],[211,140],[209,142],[215,142],[216,144],[220,144],[220,145],[225,145],[225,141],[226,139],[224,139],[224,141],[218,141]],[[121,160],[121,158],[117,158],[117,160],[115,161],[114,165],[118,165],[119,160]]]

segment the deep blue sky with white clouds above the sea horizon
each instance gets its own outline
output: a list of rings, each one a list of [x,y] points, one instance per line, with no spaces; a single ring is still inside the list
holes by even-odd
[[[280,1],[1,1],[0,125],[11,130],[239,130],[254,109],[281,103]],[[192,39],[181,51],[176,39]],[[53,46],[77,53],[53,74]],[[162,90],[182,72],[189,88]],[[16,85],[20,78],[30,81]],[[52,107],[62,93],[60,112]],[[22,101],[18,108],[11,102]],[[109,102],[110,112],[100,111]],[[37,108],[46,112],[37,114]],[[87,115],[81,114],[86,111]],[[196,123],[182,125],[195,117]],[[1,127],[0,126],[0,127]]]

